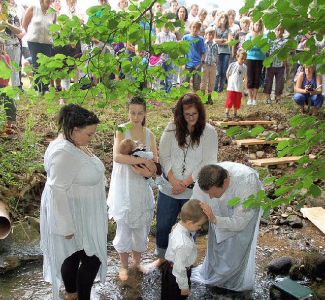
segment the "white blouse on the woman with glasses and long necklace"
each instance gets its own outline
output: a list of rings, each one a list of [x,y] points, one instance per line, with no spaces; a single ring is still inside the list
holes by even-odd
[[[183,181],[192,175],[192,179],[195,182],[203,166],[217,162],[217,133],[207,123],[203,130],[199,146],[195,145],[193,148],[189,146],[188,148],[181,149],[175,137],[175,129],[174,122],[170,122],[161,136],[159,143],[160,164],[166,176],[172,170],[175,179]],[[187,143],[189,143],[189,140],[189,136],[187,136]],[[192,195],[192,190],[188,188],[181,194],[173,195],[172,188],[173,186],[167,180],[165,180],[163,186],[159,186],[159,190],[162,193],[175,199],[187,199]]]

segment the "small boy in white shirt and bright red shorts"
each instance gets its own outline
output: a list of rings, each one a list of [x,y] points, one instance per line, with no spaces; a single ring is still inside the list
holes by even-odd
[[[239,49],[236,55],[236,62],[229,65],[227,70],[228,87],[227,87],[227,99],[225,102],[225,116],[223,122],[229,121],[229,111],[234,106],[233,121],[239,121],[237,116],[237,110],[240,109],[243,81],[247,81],[247,66],[244,64],[247,58],[247,52],[244,49]]]

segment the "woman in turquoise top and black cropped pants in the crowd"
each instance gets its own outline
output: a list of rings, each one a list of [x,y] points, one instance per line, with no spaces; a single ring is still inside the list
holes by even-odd
[[[246,41],[253,41],[257,36],[260,35],[263,35],[264,39],[266,39],[267,35],[264,34],[263,31],[262,20],[259,19],[253,24],[252,31],[246,35]],[[256,46],[247,51],[247,105],[257,105],[256,95],[259,88],[259,78],[261,77],[264,58],[265,54],[260,49],[257,49]]]

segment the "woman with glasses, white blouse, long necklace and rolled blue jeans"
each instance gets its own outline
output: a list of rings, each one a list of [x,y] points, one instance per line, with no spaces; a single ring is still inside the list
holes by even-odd
[[[159,142],[159,158],[165,184],[159,186],[154,266],[165,261],[168,235],[183,206],[192,195],[201,168],[217,162],[218,139],[206,122],[205,108],[195,93],[180,97],[174,121],[168,123]]]

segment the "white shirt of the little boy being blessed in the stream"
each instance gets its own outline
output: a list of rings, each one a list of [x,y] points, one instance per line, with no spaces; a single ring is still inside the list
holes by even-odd
[[[165,258],[174,264],[172,273],[180,289],[188,289],[186,268],[197,259],[198,248],[193,240],[194,234],[195,232],[191,233],[180,223],[169,234]]]

